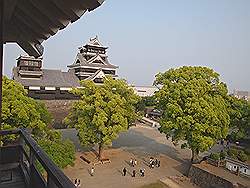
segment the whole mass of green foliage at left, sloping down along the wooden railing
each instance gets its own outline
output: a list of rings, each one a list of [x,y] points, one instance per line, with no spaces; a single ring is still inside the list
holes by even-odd
[[[48,127],[52,116],[45,104],[28,97],[23,86],[3,77],[2,129],[29,128],[32,137],[61,168],[72,165],[75,148],[71,141],[62,140],[61,133]],[[15,136],[4,136],[1,144],[8,144]]]

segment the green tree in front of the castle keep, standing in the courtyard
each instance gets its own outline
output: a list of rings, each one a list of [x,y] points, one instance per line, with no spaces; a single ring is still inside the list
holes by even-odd
[[[102,85],[82,81],[81,86],[83,88],[72,90],[80,100],[73,104],[65,123],[78,130],[82,145],[98,144],[101,159],[103,147],[136,120],[138,96],[124,80],[111,77],[105,78]]]

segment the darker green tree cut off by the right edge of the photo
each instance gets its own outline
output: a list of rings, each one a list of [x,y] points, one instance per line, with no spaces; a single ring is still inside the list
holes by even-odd
[[[250,104],[243,99],[228,96],[230,137],[236,141],[247,136],[250,128]]]

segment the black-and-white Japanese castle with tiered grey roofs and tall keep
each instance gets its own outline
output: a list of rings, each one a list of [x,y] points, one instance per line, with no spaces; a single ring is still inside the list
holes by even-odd
[[[102,83],[105,76],[117,77],[117,66],[108,61],[107,47],[97,37],[79,48],[76,60],[69,70],[43,69],[42,58],[20,56],[13,68],[13,79],[28,90],[35,99],[76,99],[69,91],[80,87],[80,80],[93,80]]]

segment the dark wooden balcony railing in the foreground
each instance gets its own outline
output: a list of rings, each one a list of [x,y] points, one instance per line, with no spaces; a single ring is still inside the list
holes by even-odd
[[[25,129],[1,130],[0,137],[6,135],[19,135],[19,144],[16,151],[19,155],[19,163],[22,168],[27,187],[36,188],[74,188],[75,186],[67,176],[55,165],[47,154],[38,146],[35,140]],[[11,146],[13,147],[13,146]],[[4,148],[8,148],[5,146]],[[28,152],[27,152],[28,150]],[[1,150],[4,152],[4,150]],[[2,153],[2,156],[4,153]],[[45,169],[46,179],[37,170],[38,161]],[[4,163],[4,159],[0,159]]]

